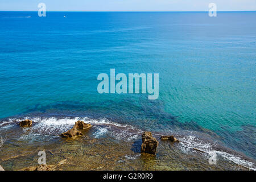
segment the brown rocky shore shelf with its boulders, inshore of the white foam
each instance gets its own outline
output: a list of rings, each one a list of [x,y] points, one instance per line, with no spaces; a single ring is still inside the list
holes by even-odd
[[[18,125],[20,127],[17,127],[16,130],[24,128],[22,130],[23,136],[26,137],[26,135],[30,134],[30,131],[35,130],[38,122],[26,119],[20,121]],[[5,158],[0,160],[1,165],[7,170],[28,171],[248,169],[232,162],[227,164],[224,161],[225,159],[218,161],[220,166],[210,165],[208,159],[205,159],[207,154],[204,155],[204,151],[197,148],[193,148],[195,151],[193,155],[183,154],[179,150],[179,146],[182,146],[181,138],[177,137],[177,139],[173,135],[158,135],[152,134],[150,131],[139,131],[141,133],[140,139],[134,138],[130,142],[129,140],[115,142],[114,138],[109,135],[102,138],[95,137],[95,132],[99,131],[98,125],[92,126],[89,123],[77,120],[75,125],[71,127],[71,129],[65,132],[56,133],[56,142],[49,142],[49,144],[43,147],[40,147],[40,145],[35,147],[33,143],[22,147],[21,141],[18,142],[20,144],[17,147],[19,148],[18,150],[22,151],[22,154],[10,155],[8,157],[9,154],[6,151],[3,154]],[[115,125],[113,125],[113,128],[115,128]],[[117,131],[117,133],[120,131]],[[27,139],[24,140],[25,143],[26,141]],[[10,150],[17,151],[17,149],[14,150],[14,148],[17,148],[16,146],[9,145],[9,147],[11,147]],[[32,148],[35,148],[35,150]],[[47,165],[36,166],[38,159],[38,150],[36,148],[47,152]],[[27,151],[27,153],[24,151]],[[14,168],[10,166],[17,161],[20,162],[20,160],[24,160],[24,163],[19,165],[20,167],[16,166]]]

